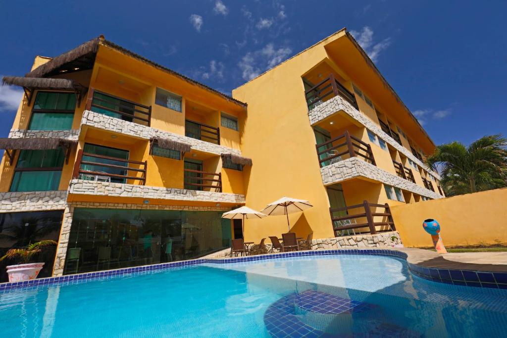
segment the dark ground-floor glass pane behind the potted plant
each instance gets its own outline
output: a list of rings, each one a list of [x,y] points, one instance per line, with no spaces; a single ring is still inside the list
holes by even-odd
[[[63,211],[13,212],[0,214],[0,257],[7,250],[19,248],[41,240],[58,241]],[[50,277],[53,271],[56,245],[45,246],[33,257],[33,262],[44,262],[39,277]],[[0,261],[0,282],[7,282],[9,277],[6,267],[18,264],[15,259],[6,258]]]

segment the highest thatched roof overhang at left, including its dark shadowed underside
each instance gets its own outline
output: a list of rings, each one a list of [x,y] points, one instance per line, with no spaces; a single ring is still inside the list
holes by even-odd
[[[26,74],[28,78],[43,78],[51,74],[91,69],[98,51],[100,37],[63,53]],[[76,69],[78,68],[78,69]]]

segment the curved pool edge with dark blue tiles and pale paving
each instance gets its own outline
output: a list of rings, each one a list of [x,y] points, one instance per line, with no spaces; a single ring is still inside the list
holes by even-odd
[[[145,265],[132,268],[121,268],[88,272],[81,274],[65,275],[60,277],[46,277],[23,282],[0,283],[0,294],[11,290],[28,289],[40,285],[49,284],[75,284],[91,279],[103,279],[139,273],[152,272],[157,270],[168,270],[175,268],[187,268],[201,265],[203,263],[227,264],[243,261],[256,261],[275,258],[319,256],[333,254],[361,254],[378,255],[401,258],[407,261],[410,272],[426,280],[454,284],[461,286],[486,287],[507,289],[507,265],[500,265],[495,270],[484,270],[492,265],[468,264],[446,260],[440,254],[416,249],[416,248],[364,248],[364,249],[329,249],[329,250],[307,250],[281,253],[268,253],[255,256],[240,256],[230,258],[197,258],[176,262]],[[440,259],[442,258],[442,259]],[[442,261],[445,260],[445,261]],[[486,267],[483,267],[486,266]]]

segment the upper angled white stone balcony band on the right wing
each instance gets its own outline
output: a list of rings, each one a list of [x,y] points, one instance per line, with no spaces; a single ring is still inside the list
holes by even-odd
[[[335,114],[337,111],[344,111],[348,116],[350,116],[352,119],[356,120],[366,128],[370,129],[372,132],[380,136],[384,141],[392,145],[397,151],[417,163],[421,168],[428,169],[426,164],[422,163],[421,160],[416,158],[414,154],[412,154],[409,149],[401,145],[400,143],[396,142],[391,136],[387,135],[381,128],[378,126],[375,122],[370,120],[366,115],[364,115],[362,112],[354,108],[350,103],[348,103],[345,99],[343,99],[341,96],[335,96],[332,99],[325,101],[313,109],[311,109],[308,112],[308,117],[310,119],[310,124],[314,125],[318,123],[319,121],[322,121],[323,119]],[[431,171],[431,174],[438,179],[440,179],[440,175],[433,171]]]

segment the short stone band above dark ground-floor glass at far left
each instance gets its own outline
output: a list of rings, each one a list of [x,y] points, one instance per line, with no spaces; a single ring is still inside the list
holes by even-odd
[[[65,190],[0,193],[0,213],[63,210],[66,202]]]

